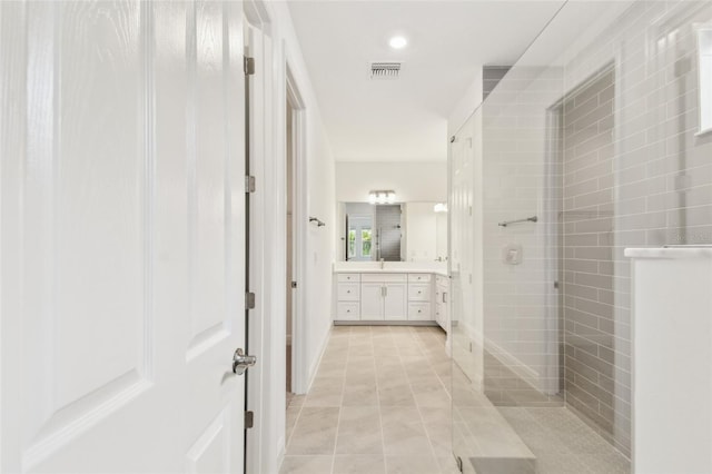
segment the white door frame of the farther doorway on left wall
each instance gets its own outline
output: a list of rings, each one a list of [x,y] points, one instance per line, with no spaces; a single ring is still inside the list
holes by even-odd
[[[293,293],[291,305],[291,392],[305,394],[308,387],[308,367],[304,344],[306,327],[303,315],[306,315],[305,288],[307,285],[305,257],[307,255],[307,166],[306,166],[306,106],[294,77],[290,61],[287,58],[285,69],[287,101],[291,107],[293,136],[293,258],[291,276],[297,282]],[[285,147],[286,158],[286,147]],[[286,342],[285,342],[286,343]]]

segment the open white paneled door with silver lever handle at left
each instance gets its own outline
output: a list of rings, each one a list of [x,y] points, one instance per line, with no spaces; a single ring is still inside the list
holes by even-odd
[[[1,472],[243,472],[240,9],[0,3]]]

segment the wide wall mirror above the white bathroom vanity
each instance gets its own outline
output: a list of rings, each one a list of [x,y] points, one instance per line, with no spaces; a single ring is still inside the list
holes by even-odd
[[[447,213],[437,205],[339,203],[338,260],[444,261]]]

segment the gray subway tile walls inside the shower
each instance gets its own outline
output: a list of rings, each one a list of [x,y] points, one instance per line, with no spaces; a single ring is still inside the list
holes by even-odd
[[[482,107],[483,302],[491,352],[530,385],[551,389],[557,308],[547,296],[547,224],[557,217],[546,209],[561,199],[564,395],[627,454],[631,271],[623,251],[712,244],[712,134],[696,134],[695,57],[696,26],[712,20],[712,3],[640,1],[616,14],[596,34],[582,31],[550,63],[525,57]],[[546,57],[536,45],[531,51]],[[563,168],[548,169],[547,115],[557,102],[560,126],[571,128],[562,138]],[[558,174],[556,198],[548,178]],[[497,226],[535,214],[536,225]],[[503,263],[510,244],[522,245],[521,265]]]

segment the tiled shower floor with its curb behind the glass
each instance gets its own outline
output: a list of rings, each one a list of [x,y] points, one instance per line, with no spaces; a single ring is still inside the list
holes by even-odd
[[[453,371],[454,448],[464,460],[465,474],[631,472],[630,461],[571,409],[536,403],[495,406],[501,401],[493,403],[485,395],[488,391],[472,387],[457,364]],[[494,462],[487,463],[490,460]],[[497,460],[526,462],[508,468]]]

